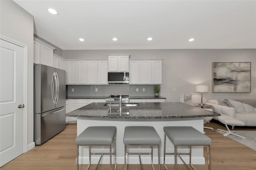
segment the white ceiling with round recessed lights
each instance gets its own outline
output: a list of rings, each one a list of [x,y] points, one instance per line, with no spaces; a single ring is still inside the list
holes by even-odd
[[[255,0],[14,1],[34,16],[34,34],[61,49],[256,48]]]

